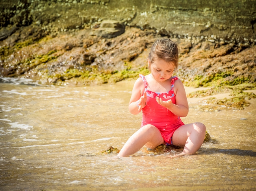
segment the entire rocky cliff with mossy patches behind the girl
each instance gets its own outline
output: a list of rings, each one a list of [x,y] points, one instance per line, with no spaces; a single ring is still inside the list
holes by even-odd
[[[2,0],[0,73],[42,83],[147,74],[156,38],[180,45],[187,85],[255,84],[256,0]]]

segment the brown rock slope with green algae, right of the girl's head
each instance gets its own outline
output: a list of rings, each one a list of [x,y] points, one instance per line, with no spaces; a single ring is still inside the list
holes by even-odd
[[[180,57],[179,73],[184,77],[185,85],[209,87],[256,83],[256,46],[208,58],[214,49],[222,51],[225,46],[206,41],[199,44],[200,47],[193,46],[187,55]],[[216,45],[219,48],[215,48]],[[238,46],[232,45],[233,49]]]

